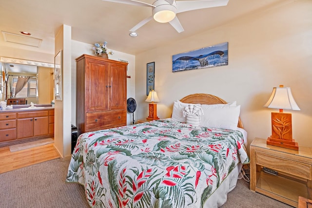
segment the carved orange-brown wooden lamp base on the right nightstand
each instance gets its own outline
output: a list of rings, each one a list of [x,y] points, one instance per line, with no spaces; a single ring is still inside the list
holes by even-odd
[[[298,143],[292,139],[292,114],[272,112],[271,117],[272,135],[267,144],[298,151]]]

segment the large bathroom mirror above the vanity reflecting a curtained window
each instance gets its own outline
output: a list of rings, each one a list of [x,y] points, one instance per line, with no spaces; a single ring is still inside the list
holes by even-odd
[[[1,57],[0,68],[2,72],[1,101],[24,99],[25,101],[18,103],[20,105],[31,102],[50,104],[53,100],[54,64]],[[19,77],[27,79],[24,80],[25,85],[17,93]]]

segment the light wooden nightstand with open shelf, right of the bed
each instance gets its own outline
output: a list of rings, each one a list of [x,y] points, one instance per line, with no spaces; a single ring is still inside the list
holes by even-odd
[[[267,145],[255,138],[250,145],[250,189],[298,207],[298,197],[312,199],[312,148],[299,151]],[[276,171],[267,173],[263,167]]]

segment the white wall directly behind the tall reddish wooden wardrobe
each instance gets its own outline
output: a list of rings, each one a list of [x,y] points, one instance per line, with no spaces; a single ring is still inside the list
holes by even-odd
[[[103,40],[104,41],[104,40]],[[109,46],[109,43],[108,43]],[[80,57],[82,54],[94,55],[93,45],[72,40],[72,124],[76,126],[76,58]],[[111,50],[108,49],[108,52]],[[109,59],[112,60],[126,60],[129,62],[127,75],[131,78],[127,78],[127,98],[136,97],[135,95],[135,56],[130,54],[125,54],[118,51],[113,51],[113,55],[108,55]],[[136,118],[136,115],[135,115]],[[132,124],[132,113],[127,113],[127,124]]]

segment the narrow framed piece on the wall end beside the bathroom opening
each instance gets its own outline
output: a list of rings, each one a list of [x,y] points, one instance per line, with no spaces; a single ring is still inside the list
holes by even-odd
[[[62,100],[62,51],[54,57],[54,99]]]

